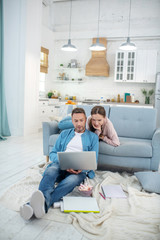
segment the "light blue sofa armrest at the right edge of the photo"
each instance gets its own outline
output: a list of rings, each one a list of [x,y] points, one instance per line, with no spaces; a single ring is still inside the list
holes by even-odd
[[[153,134],[152,147],[153,157],[151,161],[151,170],[157,171],[160,164],[160,128],[157,128]]]

